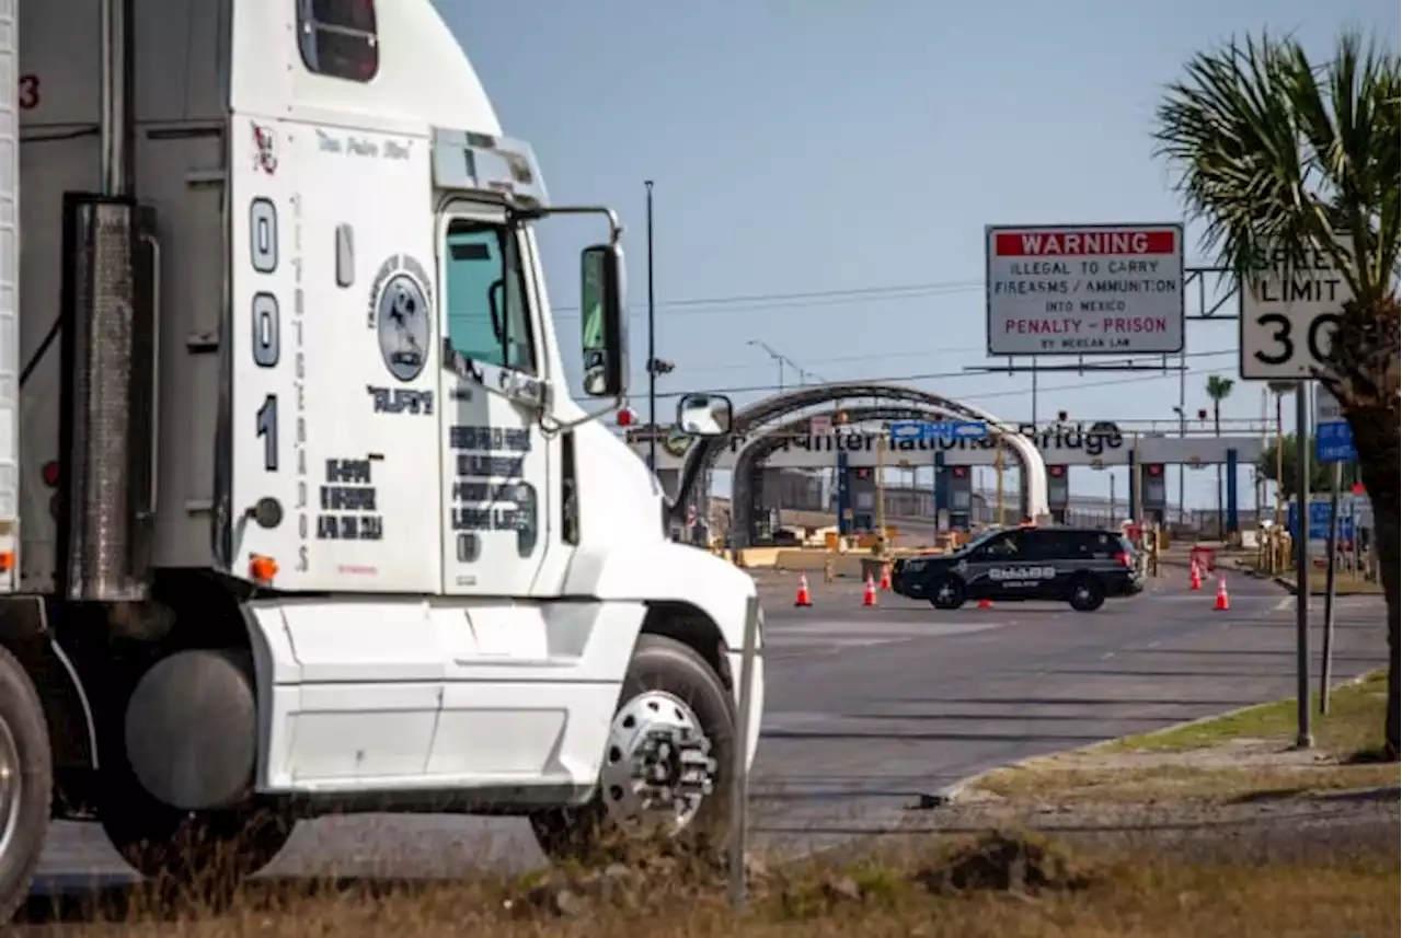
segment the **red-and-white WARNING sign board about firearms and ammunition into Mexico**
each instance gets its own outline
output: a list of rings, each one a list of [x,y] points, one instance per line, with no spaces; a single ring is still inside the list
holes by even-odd
[[[988,354],[1183,350],[1183,225],[990,225]]]

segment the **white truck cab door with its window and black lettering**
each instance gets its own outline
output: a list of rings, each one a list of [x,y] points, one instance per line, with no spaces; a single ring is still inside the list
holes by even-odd
[[[540,343],[519,234],[499,211],[440,218],[443,592],[526,596],[545,554]]]

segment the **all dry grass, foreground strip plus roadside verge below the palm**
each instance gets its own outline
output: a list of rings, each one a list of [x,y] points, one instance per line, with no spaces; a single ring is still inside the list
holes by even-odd
[[[1402,783],[1395,766],[1357,762],[1378,742],[1381,690],[1378,676],[1340,690],[1332,715],[1316,727],[1318,753],[1288,750],[1294,711],[1280,703],[995,773],[981,787],[1012,811],[965,830],[1023,827],[1018,809],[1036,813],[1052,805],[1066,812],[1059,816],[1071,825],[1068,840],[927,832],[795,862],[756,861],[751,899],[739,918],[726,904],[719,861],[700,862],[652,843],[611,862],[515,878],[264,881],[219,902],[174,899],[154,886],[57,904],[34,900],[24,931],[123,938],[1394,934],[1402,840],[1371,822],[1360,827],[1361,815],[1349,808],[1333,806],[1342,812],[1335,822],[1311,819],[1315,832],[1321,823],[1354,823],[1335,830],[1322,848],[1300,848],[1300,815],[1281,815],[1283,823],[1267,832],[1277,840],[1265,851],[1242,848],[1241,830],[1225,823],[1199,823],[1196,841],[1173,840],[1154,832],[1145,811],[1152,804],[1173,822],[1221,820],[1244,806],[1255,811],[1252,799],[1262,795],[1304,799],[1323,790]],[[1203,805],[1217,809],[1204,813]],[[925,818],[937,829],[958,825],[959,808],[948,811]],[[1152,846],[1070,833],[1112,820],[1131,836],[1155,839]],[[1364,829],[1381,836],[1364,843],[1354,833]],[[384,865],[391,868],[391,858]]]

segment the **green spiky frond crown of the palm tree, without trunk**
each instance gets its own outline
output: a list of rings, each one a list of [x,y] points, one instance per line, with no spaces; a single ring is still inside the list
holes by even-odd
[[[1157,113],[1204,246],[1245,274],[1328,252],[1360,301],[1402,269],[1402,63],[1360,32],[1311,63],[1293,38],[1199,53]],[[1336,235],[1340,232],[1342,237]],[[1266,252],[1270,252],[1267,263]]]

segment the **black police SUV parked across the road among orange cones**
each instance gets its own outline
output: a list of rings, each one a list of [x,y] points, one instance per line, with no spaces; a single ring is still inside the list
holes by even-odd
[[[1134,546],[1095,528],[1000,528],[948,554],[897,560],[892,589],[958,609],[969,599],[1070,602],[1099,609],[1108,596],[1144,589]]]

